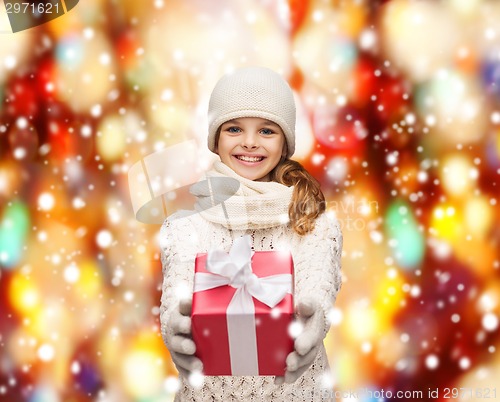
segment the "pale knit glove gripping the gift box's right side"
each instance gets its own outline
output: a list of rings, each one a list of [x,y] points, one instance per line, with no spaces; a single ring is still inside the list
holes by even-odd
[[[303,331],[295,339],[294,351],[286,358],[286,372],[283,377],[276,377],[274,383],[293,383],[304,374],[314,362],[323,342],[325,318],[318,302],[306,299],[297,304],[298,321]]]

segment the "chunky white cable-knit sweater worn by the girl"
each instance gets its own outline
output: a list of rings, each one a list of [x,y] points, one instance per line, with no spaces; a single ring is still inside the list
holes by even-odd
[[[160,232],[163,264],[161,331],[169,339],[169,317],[178,306],[179,290],[192,291],[196,253],[218,248],[226,252],[237,237],[250,234],[255,251],[287,249],[292,252],[295,269],[295,303],[303,298],[318,300],[325,316],[341,286],[340,259],[342,233],[338,222],[322,214],[312,232],[300,236],[288,224],[263,229],[229,230],[204,219],[200,214],[179,218],[171,216]],[[324,335],[328,332],[328,319]],[[176,401],[320,401],[323,374],[328,361],[323,345],[315,362],[295,383],[274,385],[271,376],[205,377],[201,388],[193,388],[180,376]]]

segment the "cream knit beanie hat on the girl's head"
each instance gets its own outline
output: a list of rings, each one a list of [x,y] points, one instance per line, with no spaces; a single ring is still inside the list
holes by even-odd
[[[245,67],[224,75],[208,104],[208,149],[215,152],[215,136],[226,121],[260,117],[278,124],[286,138],[287,157],[295,152],[295,101],[288,83],[264,67]]]

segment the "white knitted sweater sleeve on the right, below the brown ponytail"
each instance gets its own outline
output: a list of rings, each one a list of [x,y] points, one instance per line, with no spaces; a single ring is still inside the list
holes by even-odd
[[[342,240],[337,219],[323,213],[314,230],[302,239],[303,252],[294,257],[296,303],[306,298],[320,303],[325,318],[323,336],[330,329],[329,312],[342,285]]]

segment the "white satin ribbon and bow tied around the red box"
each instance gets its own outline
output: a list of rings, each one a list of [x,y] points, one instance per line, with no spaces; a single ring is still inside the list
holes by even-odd
[[[236,289],[226,310],[233,375],[259,374],[252,298],[273,308],[287,293],[292,293],[291,274],[259,278],[252,272],[251,244],[250,236],[246,235],[234,241],[229,254],[222,250],[208,252],[206,270],[209,272],[198,272],[194,277],[194,292],[226,285]]]

